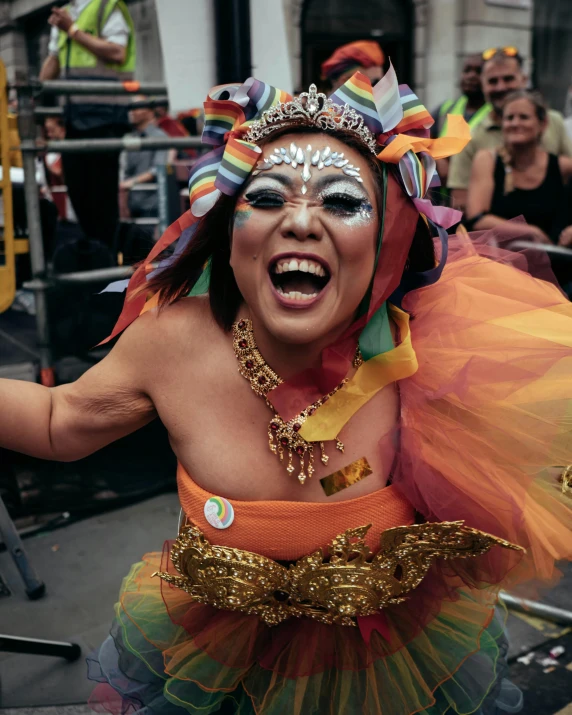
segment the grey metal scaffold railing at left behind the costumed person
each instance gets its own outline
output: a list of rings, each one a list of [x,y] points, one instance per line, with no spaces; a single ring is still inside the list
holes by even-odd
[[[36,138],[36,117],[57,116],[58,108],[35,106],[37,97],[47,95],[166,95],[166,87],[159,83],[112,82],[112,81],[73,81],[51,80],[49,82],[16,83],[12,85],[18,93],[18,128],[20,146],[24,167],[24,196],[28,219],[29,252],[32,267],[32,279],[25,287],[34,291],[36,298],[36,330],[38,352],[40,358],[40,381],[43,385],[55,384],[55,374],[50,342],[50,328],[47,292],[58,284],[88,284],[106,280],[117,280],[128,277],[132,273],[130,266],[118,266],[91,271],[75,271],[65,274],[54,274],[49,271],[42,240],[42,225],[40,219],[39,187],[36,181],[35,161],[38,154],[44,152],[97,152],[97,151],[143,151],[147,149],[189,149],[202,146],[198,137],[124,137],[122,139],[63,139],[58,141],[39,141]],[[4,101],[7,97],[7,87],[2,90]],[[152,100],[164,104],[164,99]],[[0,100],[0,112],[2,104]],[[41,111],[39,111],[41,110]],[[5,114],[5,112],[4,112]],[[5,142],[3,142],[5,144]],[[8,173],[9,176],[9,173]],[[161,176],[158,177],[159,192],[164,186]],[[4,208],[11,207],[5,195]],[[164,214],[160,207],[159,223],[164,224]],[[154,219],[150,223],[157,223]]]

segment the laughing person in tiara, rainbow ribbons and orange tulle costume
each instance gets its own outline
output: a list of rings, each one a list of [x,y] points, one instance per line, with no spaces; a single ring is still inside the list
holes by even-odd
[[[159,416],[179,459],[185,519],[124,581],[97,712],[518,710],[494,611],[571,555],[572,311],[522,257],[447,248],[424,196],[468,131],[431,121],[392,70],[215,88],[111,353],[0,381],[3,446],[77,459]]]

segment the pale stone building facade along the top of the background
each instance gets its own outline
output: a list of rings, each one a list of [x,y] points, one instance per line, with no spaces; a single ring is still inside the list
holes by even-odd
[[[186,71],[188,91],[180,101],[199,104],[205,88],[220,80],[215,48],[207,47],[214,42],[213,18],[220,5],[215,0],[127,2],[137,30],[138,78],[166,79],[180,92]],[[0,55],[11,78],[37,74],[52,4],[0,0]],[[178,16],[184,22],[177,22]],[[208,27],[197,27],[193,17]],[[336,46],[367,38],[380,43],[400,79],[429,107],[455,96],[463,58],[488,47],[518,47],[533,80],[557,109],[564,108],[572,76],[570,0],[250,0],[250,27],[253,73],[291,90],[319,79],[321,61]],[[178,54],[173,46],[180,48]],[[181,64],[166,78],[164,58],[169,65]]]

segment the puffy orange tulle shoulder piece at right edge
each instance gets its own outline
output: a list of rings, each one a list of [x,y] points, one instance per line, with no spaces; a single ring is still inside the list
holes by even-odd
[[[426,518],[527,549],[515,569],[479,559],[475,581],[550,582],[572,557],[572,304],[497,244],[452,237],[440,281],[404,301],[419,369],[400,383],[394,484]]]

